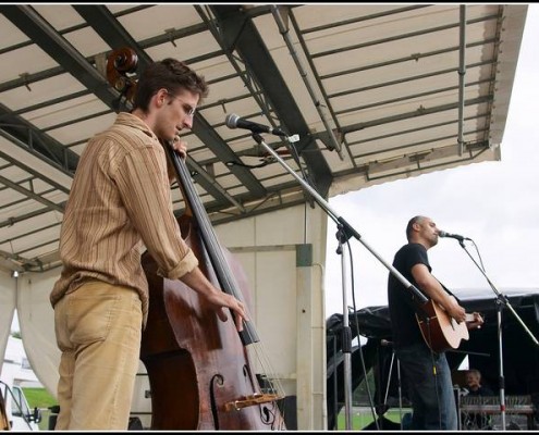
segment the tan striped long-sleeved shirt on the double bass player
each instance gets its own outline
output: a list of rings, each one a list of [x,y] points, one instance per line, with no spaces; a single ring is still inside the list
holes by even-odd
[[[138,291],[146,325],[145,247],[157,273],[170,279],[198,264],[173,214],[163,147],[144,121],[120,113],[81,156],[60,233],[63,269],[50,294],[52,307],[85,282],[100,279]]]

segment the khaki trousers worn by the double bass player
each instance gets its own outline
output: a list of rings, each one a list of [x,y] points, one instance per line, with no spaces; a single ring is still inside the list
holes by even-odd
[[[100,281],[54,306],[62,351],[56,430],[126,431],[142,334],[138,294]]]

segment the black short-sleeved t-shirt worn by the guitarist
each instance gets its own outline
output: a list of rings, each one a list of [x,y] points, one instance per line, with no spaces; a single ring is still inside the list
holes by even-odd
[[[412,276],[412,268],[416,264],[425,264],[429,272],[427,248],[420,244],[404,245],[393,260],[393,268],[408,279],[418,290],[419,287]],[[414,294],[407,289],[392,273],[388,278],[388,304],[391,316],[392,338],[396,347],[409,346],[416,343],[425,343],[416,319]]]

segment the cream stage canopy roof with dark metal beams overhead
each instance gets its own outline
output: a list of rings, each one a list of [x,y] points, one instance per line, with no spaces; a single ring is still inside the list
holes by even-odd
[[[264,136],[324,198],[500,160],[526,12],[523,4],[2,4],[0,268],[59,264],[81,152],[128,109],[106,77],[112,52],[137,54],[135,79],[152,60],[173,57],[209,82],[183,138],[217,224],[311,201],[248,130],[225,125],[228,114],[290,135]],[[181,213],[179,188],[174,200]]]

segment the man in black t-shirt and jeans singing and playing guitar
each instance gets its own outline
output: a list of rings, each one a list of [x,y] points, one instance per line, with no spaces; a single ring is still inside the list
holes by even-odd
[[[455,324],[466,325],[464,308],[431,274],[427,250],[438,244],[438,232],[430,217],[411,219],[406,226],[408,243],[395,253],[393,266],[429,298],[432,307],[439,308]],[[409,430],[456,431],[456,405],[445,353],[427,345],[432,337],[429,332],[424,336],[425,331],[418,322],[418,319],[429,319],[428,310],[393,274],[388,279],[388,302],[393,346],[408,383],[413,407]],[[469,326],[477,327],[482,319],[478,313],[474,313],[474,318]]]

